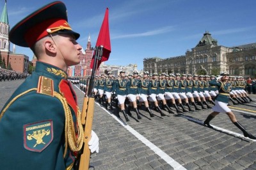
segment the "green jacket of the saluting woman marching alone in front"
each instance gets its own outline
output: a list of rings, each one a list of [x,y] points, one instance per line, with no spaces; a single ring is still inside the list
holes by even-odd
[[[209,83],[210,85],[216,85],[219,89],[219,94],[216,96],[216,100],[223,103],[228,103],[229,92],[231,91],[231,83],[228,81],[216,81],[216,79],[209,81]]]

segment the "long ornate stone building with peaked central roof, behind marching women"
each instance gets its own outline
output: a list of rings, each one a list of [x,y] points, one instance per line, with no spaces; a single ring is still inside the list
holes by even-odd
[[[227,47],[218,45],[209,32],[186,55],[143,59],[143,70],[152,73],[220,74],[256,76],[256,43]]]

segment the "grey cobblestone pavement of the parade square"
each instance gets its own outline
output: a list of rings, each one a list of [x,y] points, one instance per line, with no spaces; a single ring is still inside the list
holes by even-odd
[[[0,109],[24,80],[0,82]],[[82,108],[84,94],[74,87]],[[250,95],[256,101],[256,95]],[[237,120],[256,135],[256,102],[231,104]],[[161,117],[153,111],[150,118],[121,119],[95,103],[93,131],[100,139],[100,152],[93,154],[95,169],[256,169],[256,142],[243,138],[242,132],[220,113],[211,122],[217,129],[202,125],[211,110]]]

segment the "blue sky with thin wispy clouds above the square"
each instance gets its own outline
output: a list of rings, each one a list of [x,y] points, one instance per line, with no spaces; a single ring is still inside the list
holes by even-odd
[[[52,1],[7,1],[9,24]],[[194,48],[205,31],[218,45],[236,46],[256,42],[255,0],[95,0],[63,1],[68,23],[81,34],[84,48],[88,35],[95,46],[106,8],[109,8],[111,54],[106,64],[138,64],[145,57],[176,57]],[[0,0],[2,12],[4,0]],[[12,45],[11,45],[12,49]],[[16,46],[16,53],[32,59],[29,48]]]

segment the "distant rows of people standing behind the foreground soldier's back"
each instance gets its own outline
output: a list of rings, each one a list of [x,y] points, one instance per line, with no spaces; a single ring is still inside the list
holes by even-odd
[[[0,81],[12,81],[25,79],[28,76],[26,73],[0,68]]]

